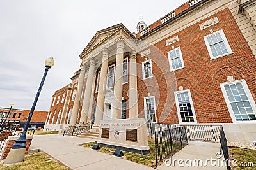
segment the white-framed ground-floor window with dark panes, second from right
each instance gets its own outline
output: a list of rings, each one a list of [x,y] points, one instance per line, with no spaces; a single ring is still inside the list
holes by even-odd
[[[174,92],[180,123],[196,123],[195,110],[190,90]]]

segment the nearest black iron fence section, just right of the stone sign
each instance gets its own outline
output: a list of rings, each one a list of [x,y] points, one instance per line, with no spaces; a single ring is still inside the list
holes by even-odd
[[[156,167],[159,162],[182,149],[187,143],[185,127],[155,132]]]

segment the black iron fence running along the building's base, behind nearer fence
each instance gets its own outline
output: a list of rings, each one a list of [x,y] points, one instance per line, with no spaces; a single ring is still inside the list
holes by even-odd
[[[175,125],[148,123],[148,136],[154,136],[155,132],[176,127],[185,127],[189,141],[209,141],[219,142],[219,132],[221,125]]]

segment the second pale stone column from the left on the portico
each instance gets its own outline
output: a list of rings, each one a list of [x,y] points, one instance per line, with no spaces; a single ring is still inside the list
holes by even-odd
[[[84,122],[84,124],[86,124],[88,119],[88,110],[89,110],[90,99],[92,94],[92,83],[93,83],[94,71],[95,71],[95,59],[91,59],[90,67],[88,71],[88,77],[86,81],[86,87],[84,91],[84,101],[83,101],[81,118],[80,118],[80,122]]]

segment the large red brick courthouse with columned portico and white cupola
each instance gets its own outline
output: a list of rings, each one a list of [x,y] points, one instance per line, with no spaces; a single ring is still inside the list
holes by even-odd
[[[255,1],[194,0],[138,33],[98,31],[72,83],[54,92],[45,128],[133,117],[255,127],[255,11]]]

